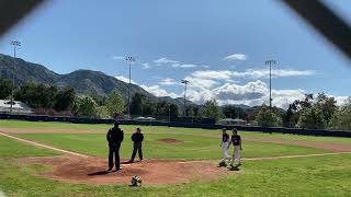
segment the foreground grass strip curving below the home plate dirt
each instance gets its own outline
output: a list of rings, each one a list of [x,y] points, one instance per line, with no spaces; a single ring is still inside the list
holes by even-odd
[[[246,162],[241,172],[178,186],[84,185],[31,175],[38,166],[0,161],[0,190],[8,196],[349,196],[351,154]]]

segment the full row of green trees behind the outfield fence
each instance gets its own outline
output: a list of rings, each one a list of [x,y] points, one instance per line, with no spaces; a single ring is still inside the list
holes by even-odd
[[[0,78],[0,99],[10,99],[12,83]],[[71,88],[29,82],[14,90],[14,99],[21,101],[37,114],[69,115],[77,117],[115,118],[127,114],[128,103],[117,89],[109,95],[78,94]],[[262,127],[290,127],[307,129],[351,130],[351,100],[337,106],[336,100],[325,93],[306,94],[303,100],[290,104],[286,111],[264,104],[260,107],[244,109],[227,105],[218,106],[216,100],[204,105],[189,105],[186,108],[166,101],[152,101],[136,93],[131,99],[129,113],[133,117],[179,116],[213,118],[239,118]]]

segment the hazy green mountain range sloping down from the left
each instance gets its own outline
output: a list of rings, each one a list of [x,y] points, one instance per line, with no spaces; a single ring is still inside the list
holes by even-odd
[[[25,61],[20,58],[0,54],[0,77],[11,80],[14,67],[15,85],[22,85],[26,82],[44,83],[48,85],[70,86],[80,94],[107,95],[113,89],[117,89],[124,99],[128,97],[128,83],[125,83],[112,76],[101,71],[76,70],[67,74],[56,73],[43,65]],[[169,96],[157,97],[143,88],[131,84],[131,95],[141,93],[151,101],[166,101],[180,106],[183,105],[183,99],[172,99]],[[188,101],[189,104],[194,104]]]

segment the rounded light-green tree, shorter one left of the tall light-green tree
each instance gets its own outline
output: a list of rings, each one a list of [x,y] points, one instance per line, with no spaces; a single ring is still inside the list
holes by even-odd
[[[76,116],[97,117],[98,105],[91,96],[80,96],[75,101],[72,111]]]

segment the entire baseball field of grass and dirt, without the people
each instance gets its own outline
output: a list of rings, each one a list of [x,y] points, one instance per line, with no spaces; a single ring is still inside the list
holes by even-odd
[[[220,130],[122,125],[123,170],[106,173],[110,127],[0,120],[0,196],[351,194],[351,139],[239,131],[244,162],[229,171],[217,167]],[[137,127],[145,160],[127,164]]]

